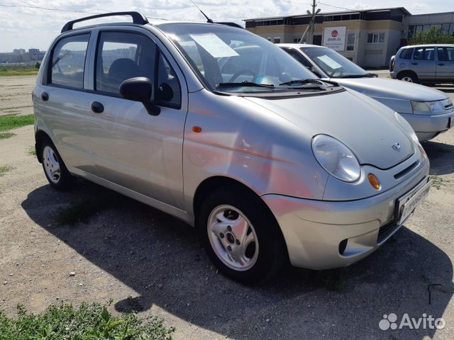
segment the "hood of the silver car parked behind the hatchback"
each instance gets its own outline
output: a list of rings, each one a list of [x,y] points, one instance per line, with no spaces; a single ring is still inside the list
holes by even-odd
[[[410,101],[441,101],[448,98],[443,92],[406,81],[382,78],[332,78],[339,85],[366,96],[407,99]]]

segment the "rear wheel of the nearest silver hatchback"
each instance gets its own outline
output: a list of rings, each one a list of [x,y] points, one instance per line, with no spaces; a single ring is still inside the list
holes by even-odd
[[[45,140],[41,144],[41,157],[44,174],[50,186],[57,190],[68,190],[74,187],[77,178],[70,174],[57,148],[50,140]]]

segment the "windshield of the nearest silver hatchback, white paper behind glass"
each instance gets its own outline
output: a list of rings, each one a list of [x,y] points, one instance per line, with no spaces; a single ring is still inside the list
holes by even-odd
[[[247,30],[198,23],[163,23],[159,28],[182,52],[211,90],[228,92],[321,90],[329,84],[292,83],[318,79],[279,47]],[[285,83],[285,84],[284,84]]]

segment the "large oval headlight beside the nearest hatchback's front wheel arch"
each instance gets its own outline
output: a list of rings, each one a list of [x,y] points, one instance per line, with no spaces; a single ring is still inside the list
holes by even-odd
[[[312,152],[328,174],[344,182],[360,179],[361,169],[353,152],[338,140],[327,135],[316,135],[312,140]]]

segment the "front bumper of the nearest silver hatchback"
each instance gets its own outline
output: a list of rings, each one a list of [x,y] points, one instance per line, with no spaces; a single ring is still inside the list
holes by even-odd
[[[279,223],[292,265],[311,269],[349,266],[401,227],[394,223],[396,201],[427,183],[428,167],[425,162],[410,179],[361,200],[321,201],[274,194],[262,199]]]

